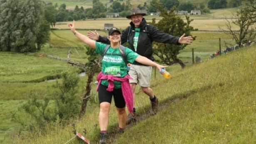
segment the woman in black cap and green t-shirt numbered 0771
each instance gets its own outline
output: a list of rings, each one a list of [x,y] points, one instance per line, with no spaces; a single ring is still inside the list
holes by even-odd
[[[75,21],[69,23],[68,26],[79,40],[96,49],[95,51],[98,54],[103,55],[103,50],[107,46],[106,44],[95,42],[89,37],[77,32],[75,30]],[[127,121],[125,105],[127,104],[130,112],[132,112],[133,108],[132,89],[129,85],[129,79],[132,78],[127,74],[126,64],[120,54],[125,53],[126,61],[130,63],[137,61],[144,65],[157,67],[159,70],[168,67],[152,62],[147,59],[147,57],[142,57],[127,47],[125,47],[125,52],[122,52],[122,50],[120,50],[121,32],[116,27],[110,28],[108,35],[111,45],[102,59],[102,70],[97,77],[97,80],[99,81],[97,91],[100,105],[100,144],[106,143],[108,117],[112,97],[114,97],[114,103],[117,109],[119,124],[118,132],[124,132]]]

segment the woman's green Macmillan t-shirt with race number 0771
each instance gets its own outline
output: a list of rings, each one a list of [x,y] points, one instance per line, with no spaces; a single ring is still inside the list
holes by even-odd
[[[103,55],[103,49],[106,47],[106,44],[96,42],[95,52]],[[113,49],[109,47],[106,54],[121,54],[119,48]],[[130,50],[128,47],[125,47],[125,55],[127,62],[133,63],[134,60],[139,56],[136,52]],[[113,76],[124,77],[127,75],[127,65],[123,61],[122,56],[118,55],[104,55],[102,59],[102,73],[103,74],[113,74]],[[103,79],[101,84],[108,86],[107,80]],[[114,88],[121,88],[121,82],[114,81]]]

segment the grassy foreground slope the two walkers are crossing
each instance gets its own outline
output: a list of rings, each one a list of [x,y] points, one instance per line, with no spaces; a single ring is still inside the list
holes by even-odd
[[[139,122],[128,125],[124,134],[115,135],[117,117],[112,105],[109,143],[255,143],[255,55],[254,45],[184,70],[169,67],[170,79],[164,79],[161,74],[152,79],[152,88],[160,99],[160,109],[155,116],[147,115],[149,99],[138,92]],[[92,143],[99,139],[98,112],[99,107],[88,107],[84,119],[76,122],[77,131],[82,133],[86,128],[86,137]],[[66,127],[35,139],[14,139],[21,144],[63,144],[72,137],[72,127]],[[73,139],[69,143],[80,142]]]

